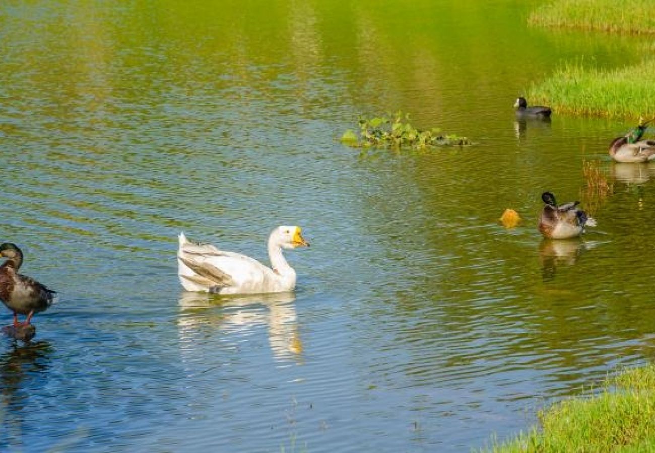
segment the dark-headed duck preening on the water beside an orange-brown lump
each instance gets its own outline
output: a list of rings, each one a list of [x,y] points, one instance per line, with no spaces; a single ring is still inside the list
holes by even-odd
[[[545,238],[568,239],[580,236],[584,227],[595,227],[596,221],[578,209],[580,202],[571,202],[557,206],[551,192],[541,194],[546,206],[539,218],[539,231]]]

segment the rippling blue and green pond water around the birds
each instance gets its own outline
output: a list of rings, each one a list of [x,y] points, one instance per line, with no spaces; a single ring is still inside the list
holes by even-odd
[[[536,4],[0,5],[1,240],[59,293],[0,341],[0,449],[468,451],[652,358],[655,168],[607,157],[631,124],[512,111],[648,43],[529,28]],[[396,109],[477,145],[335,140]],[[544,242],[543,190],[599,226]],[[181,290],[179,231],[267,261],[276,225],[312,243],[294,293]]]

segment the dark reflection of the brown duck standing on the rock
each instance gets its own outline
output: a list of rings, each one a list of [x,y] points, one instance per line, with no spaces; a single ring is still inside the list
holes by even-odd
[[[24,448],[22,433],[24,410],[29,393],[47,384],[52,346],[47,341],[14,342],[0,355],[0,446]]]

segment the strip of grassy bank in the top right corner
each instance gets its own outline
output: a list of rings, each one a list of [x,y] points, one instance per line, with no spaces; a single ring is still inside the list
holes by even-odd
[[[597,29],[614,33],[655,33],[652,0],[555,0],[534,10],[529,24]]]

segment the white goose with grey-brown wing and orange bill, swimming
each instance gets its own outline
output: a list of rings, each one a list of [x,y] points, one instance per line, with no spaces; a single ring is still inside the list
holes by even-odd
[[[295,270],[282,255],[282,249],[309,247],[300,227],[277,227],[269,236],[272,269],[259,261],[221,251],[210,244],[189,242],[179,234],[179,281],[187,291],[215,294],[281,293],[295,287]]]

